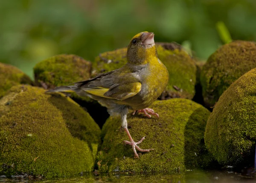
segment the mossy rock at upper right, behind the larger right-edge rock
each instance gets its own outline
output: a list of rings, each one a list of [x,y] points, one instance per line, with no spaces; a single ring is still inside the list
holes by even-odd
[[[214,106],[230,84],[253,68],[256,68],[255,42],[234,41],[215,51],[201,73],[204,102],[207,107]]]

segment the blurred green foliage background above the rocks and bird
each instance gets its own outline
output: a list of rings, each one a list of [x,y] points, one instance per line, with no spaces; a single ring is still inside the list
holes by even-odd
[[[256,0],[0,0],[0,62],[32,77],[34,65],[50,56],[93,61],[141,31],[205,60],[225,42],[219,21],[232,39],[255,41]]]

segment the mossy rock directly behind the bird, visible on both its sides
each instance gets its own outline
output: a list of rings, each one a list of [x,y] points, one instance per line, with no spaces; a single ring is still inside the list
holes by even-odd
[[[187,98],[195,95],[195,61],[177,43],[156,43],[158,58],[169,71],[169,84],[160,99]],[[127,48],[101,53],[93,63],[92,75],[121,68],[127,63]]]

